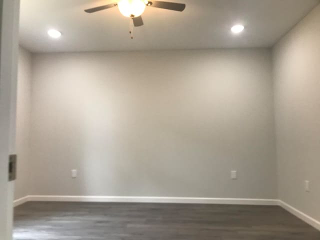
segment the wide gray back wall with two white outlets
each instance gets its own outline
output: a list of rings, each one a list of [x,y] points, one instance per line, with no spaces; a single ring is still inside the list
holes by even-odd
[[[30,194],[276,198],[269,49],[35,54],[32,78]]]

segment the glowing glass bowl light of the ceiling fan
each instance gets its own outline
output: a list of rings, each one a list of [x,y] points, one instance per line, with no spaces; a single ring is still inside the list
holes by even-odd
[[[119,0],[117,5],[123,16],[137,17],[144,12],[145,2],[145,0]]]

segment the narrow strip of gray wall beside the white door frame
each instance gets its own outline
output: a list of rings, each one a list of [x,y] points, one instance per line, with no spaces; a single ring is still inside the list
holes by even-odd
[[[14,198],[29,193],[29,131],[31,112],[31,54],[19,48],[16,106],[16,153],[18,155],[17,179]]]

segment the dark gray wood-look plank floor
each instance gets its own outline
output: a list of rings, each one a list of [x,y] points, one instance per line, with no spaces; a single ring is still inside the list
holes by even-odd
[[[320,240],[278,206],[27,202],[15,240]]]

